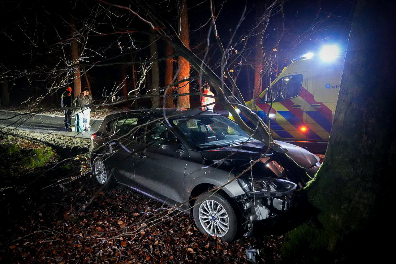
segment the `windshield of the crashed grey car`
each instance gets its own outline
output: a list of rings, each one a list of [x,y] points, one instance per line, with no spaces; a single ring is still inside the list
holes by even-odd
[[[185,138],[198,149],[215,148],[240,143],[249,138],[238,124],[221,115],[204,115],[173,119]]]

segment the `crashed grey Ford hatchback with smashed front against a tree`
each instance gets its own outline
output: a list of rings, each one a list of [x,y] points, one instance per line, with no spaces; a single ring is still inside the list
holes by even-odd
[[[202,233],[232,241],[287,217],[320,166],[309,151],[276,143],[284,151],[267,151],[213,112],[145,109],[108,115],[91,137],[90,160],[97,184],[131,187],[192,213]]]

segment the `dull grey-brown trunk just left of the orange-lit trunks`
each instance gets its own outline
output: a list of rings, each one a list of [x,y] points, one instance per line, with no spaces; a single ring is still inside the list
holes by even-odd
[[[152,33],[156,33],[154,29],[150,29]],[[153,35],[150,38],[150,56],[151,59],[158,59],[158,45],[157,38]],[[160,105],[160,70],[158,69],[158,61],[154,61],[151,66],[151,94],[154,95],[151,99],[152,108],[157,108]]]

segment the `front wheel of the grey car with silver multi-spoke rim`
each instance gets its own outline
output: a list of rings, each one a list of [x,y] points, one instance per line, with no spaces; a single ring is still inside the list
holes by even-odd
[[[196,199],[193,214],[194,222],[202,233],[216,235],[225,242],[235,239],[239,226],[236,210],[223,193],[202,194]]]

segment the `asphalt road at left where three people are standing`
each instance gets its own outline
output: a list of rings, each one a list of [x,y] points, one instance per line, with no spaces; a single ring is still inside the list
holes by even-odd
[[[65,136],[75,136],[78,138],[90,138],[91,134],[96,132],[102,123],[102,120],[90,120],[90,131],[83,133],[65,131],[65,118],[54,115],[31,115],[16,112],[0,111],[0,128],[17,128],[41,133],[53,133]],[[74,127],[74,118],[72,118]]]

